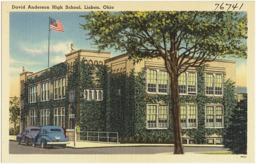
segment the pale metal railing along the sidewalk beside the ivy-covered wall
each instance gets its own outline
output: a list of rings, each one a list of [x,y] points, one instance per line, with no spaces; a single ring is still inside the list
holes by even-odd
[[[74,131],[67,130],[67,137],[70,141],[74,139]],[[118,132],[84,132],[77,133],[77,141],[118,143]]]

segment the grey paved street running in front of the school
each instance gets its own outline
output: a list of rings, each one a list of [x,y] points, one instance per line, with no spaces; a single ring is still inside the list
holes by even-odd
[[[18,142],[9,141],[10,154],[158,154],[173,152],[173,146],[136,146],[136,147],[101,147],[101,148],[61,148],[47,146],[42,149],[41,146],[20,145]],[[185,152],[225,152],[228,149],[222,147],[187,147],[184,146]]]

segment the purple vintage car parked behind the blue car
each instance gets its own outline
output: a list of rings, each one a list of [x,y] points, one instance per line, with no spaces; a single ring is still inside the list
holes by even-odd
[[[17,141],[19,144],[21,142],[26,143],[26,145],[29,145],[32,143],[32,137],[36,134],[38,134],[40,127],[26,127],[23,130],[23,133],[17,135]]]

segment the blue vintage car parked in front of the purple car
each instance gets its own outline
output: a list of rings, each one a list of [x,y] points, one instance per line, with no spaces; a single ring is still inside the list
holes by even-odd
[[[32,139],[34,147],[41,145],[42,148],[45,148],[47,145],[66,148],[66,144],[69,143],[68,138],[64,136],[62,127],[57,126],[41,127],[38,134],[34,135]]]

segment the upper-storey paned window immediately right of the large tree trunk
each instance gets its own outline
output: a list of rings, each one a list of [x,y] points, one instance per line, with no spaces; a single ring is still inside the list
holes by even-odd
[[[183,72],[178,78],[179,94],[197,94],[197,74],[196,72]]]

